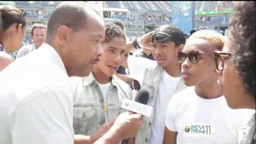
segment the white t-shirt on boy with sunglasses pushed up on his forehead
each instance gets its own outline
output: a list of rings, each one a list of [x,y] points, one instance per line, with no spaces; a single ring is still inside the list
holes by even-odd
[[[136,79],[141,84],[143,82],[147,65],[150,65],[150,63],[156,63],[156,61],[129,56],[129,77]],[[149,79],[150,77],[147,78]],[[149,143],[163,143],[166,109],[168,102],[173,96],[173,92],[175,92],[177,88],[177,83],[179,82],[180,78],[181,77],[172,77],[163,70],[163,78],[159,84],[159,95],[156,97],[154,106],[154,119],[152,122],[152,133]]]

